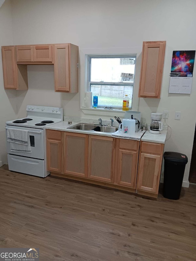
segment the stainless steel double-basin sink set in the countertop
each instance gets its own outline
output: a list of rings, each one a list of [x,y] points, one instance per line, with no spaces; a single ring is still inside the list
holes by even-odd
[[[95,124],[90,124],[90,123],[78,123],[67,129],[113,133],[113,132],[116,132],[119,128],[118,127],[108,127],[108,126],[103,126],[103,125],[95,125]]]

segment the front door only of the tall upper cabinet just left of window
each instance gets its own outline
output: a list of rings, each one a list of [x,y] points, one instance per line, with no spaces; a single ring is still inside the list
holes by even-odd
[[[55,91],[69,92],[70,76],[69,76],[69,45],[53,46],[53,61],[55,73]]]

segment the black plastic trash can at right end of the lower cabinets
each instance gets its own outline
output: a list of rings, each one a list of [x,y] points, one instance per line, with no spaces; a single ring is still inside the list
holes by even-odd
[[[163,196],[167,199],[179,199],[188,158],[182,153],[172,151],[165,152],[163,157]]]

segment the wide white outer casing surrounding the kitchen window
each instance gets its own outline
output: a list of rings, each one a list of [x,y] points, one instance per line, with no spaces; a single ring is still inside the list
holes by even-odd
[[[132,110],[138,111],[138,91],[140,81],[140,68],[141,68],[141,47],[124,47],[124,48],[86,48],[79,50],[80,56],[80,109],[84,114],[87,115],[99,115],[99,116],[121,116],[123,117],[125,112],[123,110],[104,110],[102,108],[84,108],[85,92],[88,91],[88,55],[104,55],[104,54],[132,54],[136,56],[136,68],[135,68],[135,79],[134,79],[134,93],[132,101]]]

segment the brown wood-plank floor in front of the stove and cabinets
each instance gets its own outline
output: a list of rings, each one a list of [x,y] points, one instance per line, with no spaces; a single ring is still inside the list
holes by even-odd
[[[38,178],[0,168],[0,248],[41,261],[196,260],[196,186],[179,200]]]

